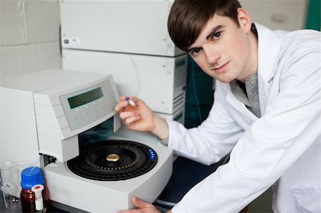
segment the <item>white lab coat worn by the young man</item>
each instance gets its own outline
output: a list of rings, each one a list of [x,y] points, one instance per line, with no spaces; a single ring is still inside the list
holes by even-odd
[[[321,212],[321,33],[258,30],[261,118],[217,82],[210,115],[186,130],[168,120],[168,146],[218,167],[173,207],[173,213],[239,212],[273,185],[274,212]],[[186,177],[189,178],[189,177]]]

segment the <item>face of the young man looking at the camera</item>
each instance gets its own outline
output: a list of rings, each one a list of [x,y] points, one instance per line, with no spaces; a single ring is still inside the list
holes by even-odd
[[[209,76],[228,83],[256,71],[257,41],[250,35],[250,19],[239,11],[240,26],[230,18],[214,15],[208,21],[188,53]],[[240,14],[241,12],[241,14]],[[249,21],[249,23],[246,23]]]

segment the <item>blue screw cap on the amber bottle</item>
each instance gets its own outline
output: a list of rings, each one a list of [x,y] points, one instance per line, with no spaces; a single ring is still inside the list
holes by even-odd
[[[44,185],[44,178],[39,167],[28,167],[21,172],[21,187],[31,189],[34,185]]]

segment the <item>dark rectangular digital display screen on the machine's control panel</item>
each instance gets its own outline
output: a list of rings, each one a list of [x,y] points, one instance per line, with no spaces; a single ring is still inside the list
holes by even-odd
[[[103,92],[101,91],[101,88],[96,88],[86,93],[82,93],[80,95],[68,98],[68,103],[70,105],[70,108],[73,109],[101,97],[103,97]]]

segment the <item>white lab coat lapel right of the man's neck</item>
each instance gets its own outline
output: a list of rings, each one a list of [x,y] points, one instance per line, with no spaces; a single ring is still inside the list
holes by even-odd
[[[280,39],[269,28],[256,24],[258,31],[258,90],[261,115],[265,115],[270,97],[270,80],[277,71]]]

